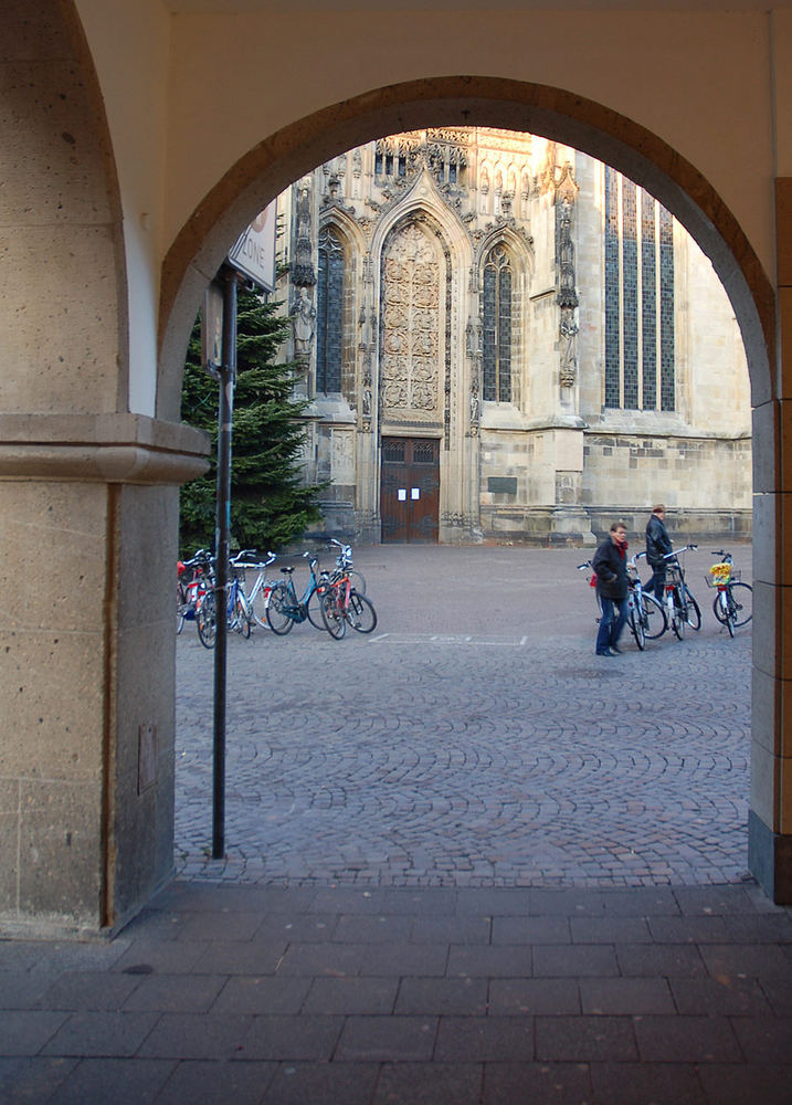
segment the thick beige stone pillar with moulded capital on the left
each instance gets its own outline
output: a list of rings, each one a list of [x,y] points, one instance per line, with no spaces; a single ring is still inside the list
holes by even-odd
[[[0,417],[0,932],[113,930],[172,872],[178,484],[198,431]]]

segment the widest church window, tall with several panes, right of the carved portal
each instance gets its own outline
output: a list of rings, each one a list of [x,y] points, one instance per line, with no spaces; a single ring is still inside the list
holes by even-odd
[[[605,168],[605,407],[676,408],[672,215],[611,168]]]

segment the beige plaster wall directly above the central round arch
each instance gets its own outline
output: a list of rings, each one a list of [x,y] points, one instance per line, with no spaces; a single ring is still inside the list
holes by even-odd
[[[654,131],[714,185],[771,271],[773,30],[760,12],[175,15],[166,238],[237,158],[293,120],[383,85],[478,74],[568,88]]]

